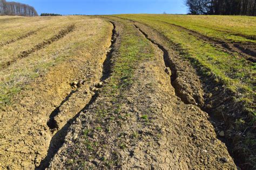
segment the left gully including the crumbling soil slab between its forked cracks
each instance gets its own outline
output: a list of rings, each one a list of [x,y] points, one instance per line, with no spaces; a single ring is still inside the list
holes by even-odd
[[[103,62],[103,69],[101,69],[101,73],[97,74],[97,82],[94,82],[93,84],[86,83],[84,86],[83,84],[85,82],[78,82],[76,86],[79,87],[79,91],[71,91],[71,93],[65,97],[63,102],[60,103],[60,105],[51,113],[47,125],[55,135],[51,139],[48,154],[44,160],[41,161],[41,164],[37,169],[45,169],[49,167],[51,159],[63,145],[70,125],[73,123],[73,121],[75,121],[82,111],[89,108],[89,105],[95,102],[98,97],[99,89],[103,86],[104,81],[110,76],[110,60],[113,52],[113,46],[117,37],[115,27],[116,26],[113,24],[111,46],[108,49],[106,58]],[[101,77],[99,78],[99,76]],[[86,97],[85,94],[87,94]],[[85,107],[81,108],[84,103],[86,103]],[[80,110],[74,110],[74,108],[78,109],[79,107]]]

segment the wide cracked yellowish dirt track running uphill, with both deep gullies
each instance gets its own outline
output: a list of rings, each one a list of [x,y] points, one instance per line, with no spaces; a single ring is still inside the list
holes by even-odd
[[[107,19],[102,51],[52,68],[1,114],[0,167],[236,169],[202,110],[205,87],[190,62],[149,27]],[[127,28],[154,55],[112,94]]]

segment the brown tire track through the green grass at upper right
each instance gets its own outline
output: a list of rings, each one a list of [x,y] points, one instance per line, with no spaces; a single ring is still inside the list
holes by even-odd
[[[186,29],[183,26],[163,22],[161,20],[158,20],[158,21],[161,23],[165,23],[165,24],[177,27],[180,30],[186,31],[189,34],[191,34],[192,36],[197,37],[199,39],[203,39],[204,41],[212,44],[213,46],[220,48],[224,52],[227,52],[232,55],[234,55],[234,53],[238,53],[239,55],[244,57],[246,60],[251,61],[251,62],[256,62],[256,52],[252,50],[253,48],[255,48],[255,44],[253,44],[253,43],[248,43],[248,42],[244,43],[244,44],[239,43],[239,42],[228,43],[223,40],[214,39],[211,37],[204,36],[203,34],[201,34],[199,32],[196,32],[196,31],[193,31],[190,29]],[[250,48],[252,48],[252,49],[250,49]]]

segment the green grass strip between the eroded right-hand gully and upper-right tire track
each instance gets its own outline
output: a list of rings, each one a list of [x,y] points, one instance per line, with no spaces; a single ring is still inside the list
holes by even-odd
[[[241,94],[237,100],[244,103],[244,105],[248,105],[248,109],[254,103],[256,90],[254,86],[255,79],[253,78],[256,74],[255,63],[247,62],[245,59],[240,58],[238,54],[232,56],[223,52],[217,47],[213,47],[211,44],[197,39],[186,31],[181,31],[176,26],[163,23],[159,20],[159,18],[161,20],[170,20],[176,17],[180,18],[180,16],[169,16],[169,18],[165,18],[164,15],[118,15],[118,17],[136,20],[151,26],[168,38],[170,43],[179,45],[179,48],[183,49],[183,51],[180,51],[180,55],[190,59],[192,64],[200,69],[201,74],[214,77],[217,82],[223,83],[226,88],[236,94]],[[201,18],[201,22],[207,22],[203,18]],[[188,22],[187,24],[189,25],[190,23]],[[252,26],[253,24],[248,27],[251,28],[251,33],[254,30],[253,34],[256,34]],[[244,28],[244,30],[246,29]]]

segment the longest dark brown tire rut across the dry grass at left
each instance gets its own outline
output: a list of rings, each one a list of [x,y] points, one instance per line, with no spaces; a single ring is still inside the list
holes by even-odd
[[[59,39],[65,37],[66,35],[68,35],[73,30],[75,30],[75,25],[70,25],[70,26],[65,27],[64,29],[60,30],[55,36],[51,37],[50,39],[44,40],[43,42],[37,44],[36,46],[32,47],[31,49],[28,49],[27,51],[21,52],[20,54],[18,54],[16,59],[12,59],[8,62],[3,63],[2,66],[1,66],[2,69],[5,69],[5,68],[9,67],[10,65],[12,65],[12,63],[16,62],[18,59],[26,58],[30,54],[32,54],[34,52],[37,52],[40,49],[43,49],[43,48],[49,46],[53,42],[58,41]]]

